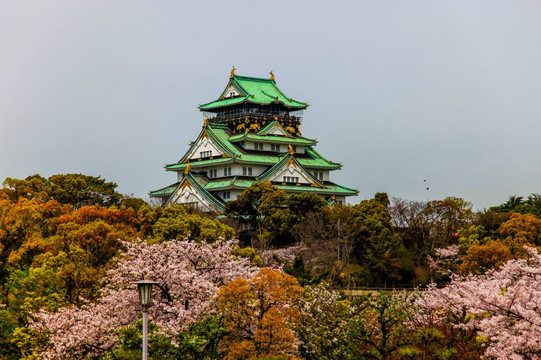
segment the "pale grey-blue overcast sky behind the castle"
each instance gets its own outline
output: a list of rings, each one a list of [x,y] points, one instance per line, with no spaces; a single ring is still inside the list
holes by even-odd
[[[2,1],[0,181],[82,173],[147,199],[235,66],[310,104],[301,131],[343,163],[331,179],[352,203],[540,193],[540,15],[538,0]]]

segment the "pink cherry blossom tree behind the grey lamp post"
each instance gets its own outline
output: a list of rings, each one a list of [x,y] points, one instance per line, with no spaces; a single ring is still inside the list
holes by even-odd
[[[130,282],[141,275],[163,284],[169,294],[159,296],[160,290],[155,289],[149,312],[162,334],[173,338],[211,310],[211,300],[220,287],[255,274],[248,259],[231,254],[235,244],[222,240],[214,244],[187,240],[124,243],[126,250],[108,272],[97,302],[35,314],[30,328],[48,336],[40,355],[65,359],[68,354],[83,358],[113,351],[119,342],[118,330],[134,324],[140,314],[138,293]]]

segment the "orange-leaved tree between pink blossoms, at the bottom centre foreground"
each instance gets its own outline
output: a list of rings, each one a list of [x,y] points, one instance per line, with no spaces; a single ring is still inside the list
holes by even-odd
[[[297,280],[263,268],[253,279],[238,278],[218,291],[218,311],[229,334],[226,359],[290,356],[295,351],[291,328],[298,322],[294,305],[302,295]]]

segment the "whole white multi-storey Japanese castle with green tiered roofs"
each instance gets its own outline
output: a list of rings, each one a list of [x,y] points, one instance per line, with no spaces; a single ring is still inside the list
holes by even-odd
[[[177,182],[151,191],[162,205],[183,204],[204,212],[223,212],[257,182],[270,181],[287,193],[315,193],[329,203],[345,203],[358,190],[330,181],[342,165],[314,148],[317,140],[301,135],[308,103],[287,97],[269,79],[239,76],[235,67],[218,100],[199,105],[205,120],[188,152],[166,171]]]

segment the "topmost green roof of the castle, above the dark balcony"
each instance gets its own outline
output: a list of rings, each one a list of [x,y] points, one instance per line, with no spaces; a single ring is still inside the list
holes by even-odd
[[[200,110],[215,110],[221,107],[237,105],[241,103],[251,103],[258,105],[270,105],[272,103],[283,104],[286,107],[300,110],[308,107],[308,103],[300,102],[288,98],[276,86],[276,82],[272,79],[254,78],[248,76],[233,76],[226,86],[226,90],[234,86],[240,96],[233,98],[225,98],[225,91],[216,101],[199,105]]]

